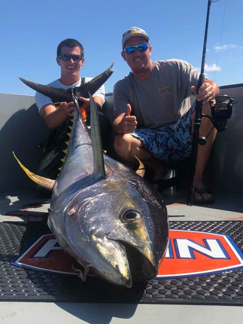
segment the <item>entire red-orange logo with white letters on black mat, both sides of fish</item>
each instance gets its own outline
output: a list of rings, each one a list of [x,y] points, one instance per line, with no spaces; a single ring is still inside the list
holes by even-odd
[[[35,270],[76,274],[74,259],[53,234],[41,236],[13,265]],[[225,234],[170,230],[169,245],[157,279],[207,275],[243,268],[243,253]]]

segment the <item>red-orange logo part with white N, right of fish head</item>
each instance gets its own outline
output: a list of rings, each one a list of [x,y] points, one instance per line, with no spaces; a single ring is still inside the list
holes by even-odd
[[[243,253],[224,234],[170,230],[157,278],[180,278],[243,268]]]

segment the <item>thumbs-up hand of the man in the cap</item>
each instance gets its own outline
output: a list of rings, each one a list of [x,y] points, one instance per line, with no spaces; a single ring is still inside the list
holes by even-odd
[[[127,111],[115,116],[113,130],[117,134],[133,133],[138,125],[136,116],[131,116],[131,106],[127,104]]]

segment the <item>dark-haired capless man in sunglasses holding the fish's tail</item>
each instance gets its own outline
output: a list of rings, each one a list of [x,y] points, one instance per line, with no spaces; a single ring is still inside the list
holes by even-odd
[[[81,78],[80,69],[85,63],[84,48],[80,42],[75,39],[68,38],[63,40],[57,47],[56,62],[61,68],[61,77],[49,84],[54,88],[69,89],[79,87],[81,82],[87,83],[92,80],[90,77]],[[112,127],[107,117],[100,111],[104,104],[104,85],[93,95],[96,103],[100,121],[101,136],[103,147],[108,143],[108,138]],[[87,125],[90,124],[90,106],[89,99],[79,98],[83,105],[81,112]],[[39,113],[46,125],[51,129],[51,134],[45,144],[45,156],[41,162],[37,174],[43,177],[56,179],[61,167],[61,159],[63,158],[63,150],[66,149],[65,142],[68,141],[67,130],[69,129],[70,119],[73,114],[73,102],[54,103],[51,98],[36,92],[36,105]],[[40,186],[35,185],[35,189],[41,190]],[[46,190],[42,190],[46,193]]]

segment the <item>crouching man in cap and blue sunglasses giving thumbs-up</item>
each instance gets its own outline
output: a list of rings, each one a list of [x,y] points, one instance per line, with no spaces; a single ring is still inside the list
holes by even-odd
[[[165,164],[191,155],[195,104],[191,106],[190,95],[196,93],[199,75],[186,61],[152,61],[151,52],[149,36],[141,28],[131,27],[123,34],[121,56],[132,71],[114,86],[113,129],[116,152],[131,163],[138,157],[158,187],[168,172]],[[195,96],[203,101],[203,113],[211,115],[209,101],[218,93],[217,84],[206,79]],[[206,136],[211,126],[203,118],[200,136]],[[194,203],[213,202],[203,174],[215,136],[216,130],[206,145],[198,147]]]

